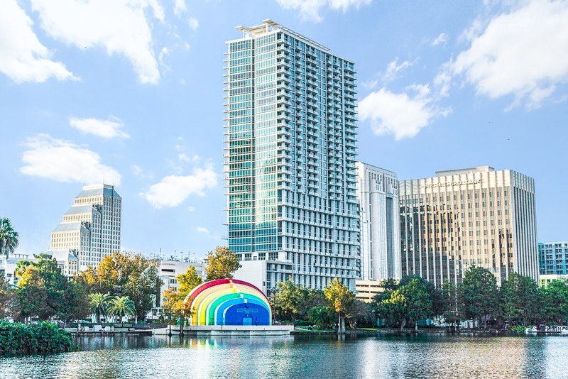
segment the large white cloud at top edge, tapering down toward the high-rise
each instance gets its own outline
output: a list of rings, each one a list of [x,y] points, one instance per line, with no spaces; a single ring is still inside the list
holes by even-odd
[[[164,21],[155,0],[32,0],[43,29],[50,37],[77,48],[102,47],[109,55],[128,58],[141,83],[160,80],[153,52],[153,18]]]

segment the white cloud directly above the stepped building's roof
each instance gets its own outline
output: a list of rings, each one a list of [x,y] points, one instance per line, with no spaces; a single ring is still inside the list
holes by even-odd
[[[20,168],[24,175],[44,177],[58,182],[82,182],[97,184],[114,182],[120,184],[121,175],[113,167],[103,165],[101,157],[94,151],[38,134],[28,138],[24,144],[28,150],[23,152]]]

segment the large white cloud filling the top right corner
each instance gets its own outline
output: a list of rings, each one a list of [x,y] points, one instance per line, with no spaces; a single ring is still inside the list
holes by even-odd
[[[476,21],[464,37],[470,47],[449,67],[464,75],[478,94],[491,99],[512,95],[513,105],[540,106],[568,82],[568,2],[523,1],[522,7]]]

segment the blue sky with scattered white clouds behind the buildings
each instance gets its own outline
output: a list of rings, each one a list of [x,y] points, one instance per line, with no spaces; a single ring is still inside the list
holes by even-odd
[[[0,1],[0,216],[49,248],[83,184],[114,182],[122,247],[225,245],[224,53],[266,18],[356,64],[359,158],[399,179],[535,178],[568,239],[568,1]]]

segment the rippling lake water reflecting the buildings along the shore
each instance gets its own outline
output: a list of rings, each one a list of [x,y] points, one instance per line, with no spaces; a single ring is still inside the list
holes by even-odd
[[[568,378],[568,337],[89,337],[0,378]]]

